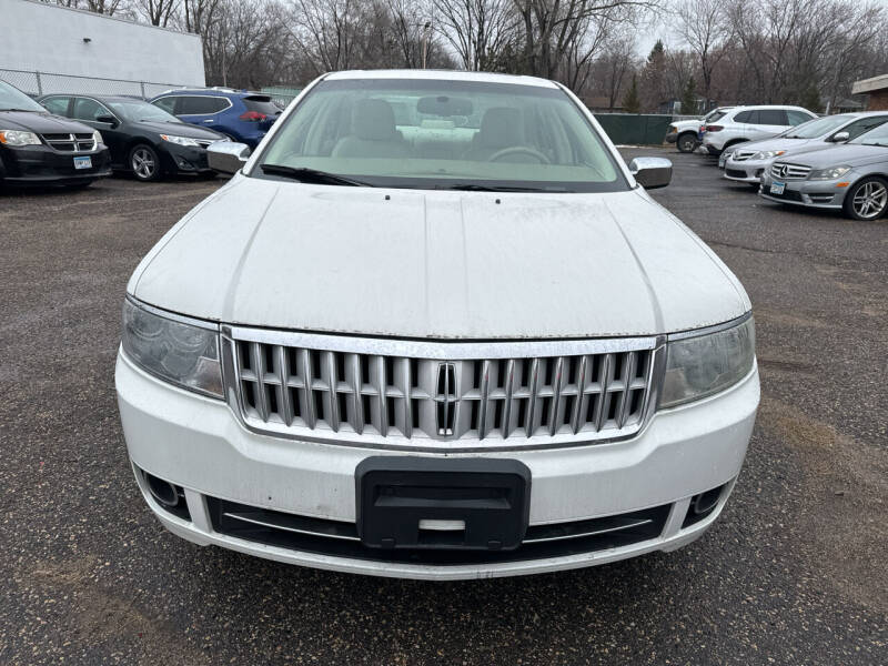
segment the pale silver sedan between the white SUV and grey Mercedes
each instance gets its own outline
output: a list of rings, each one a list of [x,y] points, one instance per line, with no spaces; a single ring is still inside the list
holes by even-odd
[[[725,169],[724,176],[735,182],[749,183],[758,190],[761,175],[767,167],[780,155],[800,154],[824,150],[856,139],[888,122],[888,111],[865,111],[841,113],[818,118],[797,128],[785,131],[771,139],[741,143],[728,149],[719,157],[719,165]]]

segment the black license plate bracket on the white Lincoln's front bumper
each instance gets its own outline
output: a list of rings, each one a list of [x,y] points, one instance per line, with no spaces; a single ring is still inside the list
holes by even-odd
[[[531,471],[514,460],[373,456],[355,491],[371,548],[511,551],[527,531]]]

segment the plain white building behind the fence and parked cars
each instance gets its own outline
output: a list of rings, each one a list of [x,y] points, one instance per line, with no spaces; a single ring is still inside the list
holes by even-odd
[[[37,0],[0,0],[0,79],[28,92],[140,92],[138,87],[129,90],[120,84],[95,90],[98,82],[78,83],[72,77],[155,84],[148,93],[158,87],[205,83],[203,49],[196,34]],[[3,70],[41,74],[26,78]],[[38,87],[40,90],[34,90]]]

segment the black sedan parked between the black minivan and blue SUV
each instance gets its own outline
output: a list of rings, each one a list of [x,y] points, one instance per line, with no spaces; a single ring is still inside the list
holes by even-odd
[[[141,181],[172,173],[213,175],[206,164],[206,147],[225,141],[219,132],[184,123],[135,98],[48,94],[40,103],[52,113],[100,130],[112,167]]]

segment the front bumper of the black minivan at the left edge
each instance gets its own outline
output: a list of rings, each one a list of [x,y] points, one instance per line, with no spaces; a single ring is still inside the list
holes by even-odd
[[[74,169],[74,158],[88,157],[89,169]],[[59,152],[47,145],[0,147],[0,181],[14,184],[69,185],[111,175],[107,148],[89,152]]]

